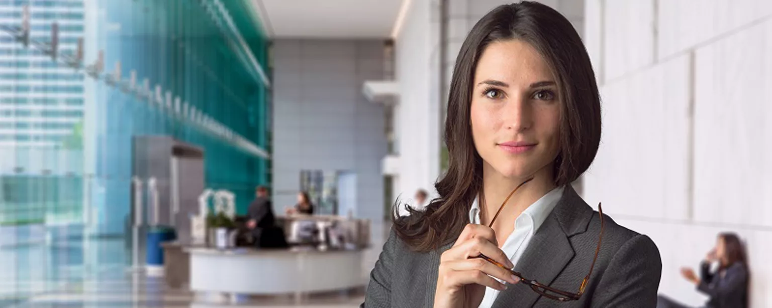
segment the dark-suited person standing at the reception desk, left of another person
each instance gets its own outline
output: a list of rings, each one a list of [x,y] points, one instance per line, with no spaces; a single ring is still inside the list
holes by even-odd
[[[276,226],[276,218],[273,216],[273,206],[268,198],[268,189],[258,186],[256,198],[249,204],[247,210],[247,228],[252,230],[252,239],[256,246],[260,247],[284,247],[287,246],[284,232]]]

